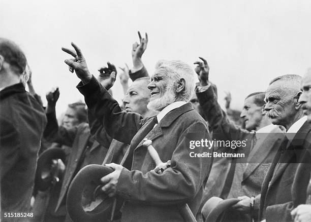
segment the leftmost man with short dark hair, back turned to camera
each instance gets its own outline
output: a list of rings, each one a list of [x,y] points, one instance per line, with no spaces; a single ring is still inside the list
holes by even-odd
[[[26,63],[14,42],[0,38],[1,221],[30,217],[38,151],[46,125],[42,106],[20,82]]]

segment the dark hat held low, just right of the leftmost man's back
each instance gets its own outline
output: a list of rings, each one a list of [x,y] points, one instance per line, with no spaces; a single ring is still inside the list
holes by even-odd
[[[53,177],[51,175],[53,160],[61,159],[65,163],[66,154],[58,148],[53,147],[45,150],[38,158],[36,178],[35,178],[35,191],[45,191],[52,185]],[[45,178],[42,175],[47,174]]]

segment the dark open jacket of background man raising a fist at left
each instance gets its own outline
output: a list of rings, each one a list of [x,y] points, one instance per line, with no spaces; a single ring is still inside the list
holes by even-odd
[[[64,127],[58,127],[55,113],[47,114],[47,119],[48,124],[44,132],[45,138],[72,147],[55,209],[57,211],[61,205],[65,204],[70,182],[76,173],[88,164],[102,164],[107,149],[90,138],[87,123],[81,123],[77,127],[67,130]],[[107,139],[111,138],[107,136]]]

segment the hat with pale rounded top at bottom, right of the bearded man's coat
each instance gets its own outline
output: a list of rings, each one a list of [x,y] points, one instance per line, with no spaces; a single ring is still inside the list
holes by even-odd
[[[211,197],[202,207],[201,213],[205,217],[206,222],[216,222],[219,221],[219,218],[222,217],[227,209],[239,201],[240,199],[237,198],[223,200],[219,197]]]

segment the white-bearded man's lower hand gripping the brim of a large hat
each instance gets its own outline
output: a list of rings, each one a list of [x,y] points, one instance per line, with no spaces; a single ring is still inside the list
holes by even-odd
[[[109,197],[113,197],[116,194],[116,186],[123,166],[115,163],[106,164],[105,166],[113,168],[114,171],[101,178],[101,182],[105,184],[102,187],[102,191],[104,191]]]

